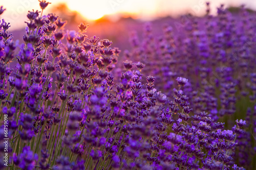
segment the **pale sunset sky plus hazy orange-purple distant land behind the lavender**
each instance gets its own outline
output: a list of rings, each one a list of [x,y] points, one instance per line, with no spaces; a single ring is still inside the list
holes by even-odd
[[[126,41],[136,30],[139,37],[142,35],[145,21],[153,23],[153,33],[161,35],[158,29],[168,24],[176,28],[184,28],[183,22],[188,17],[180,18],[181,15],[204,16],[206,2],[210,2],[210,14],[216,15],[217,7],[224,4],[230,11],[236,13],[241,5],[245,5],[250,12],[256,10],[254,0],[49,0],[43,14],[56,13],[62,20],[67,20],[67,30],[78,30],[81,21],[89,23],[88,37],[97,35],[100,39],[108,38],[114,46],[121,50],[129,48]],[[27,19],[27,12],[40,10],[38,0],[11,0],[1,1],[6,11],[2,15],[11,23],[9,29],[16,39],[22,40]],[[157,28],[157,29],[154,29]],[[155,30],[155,32],[154,32]]]

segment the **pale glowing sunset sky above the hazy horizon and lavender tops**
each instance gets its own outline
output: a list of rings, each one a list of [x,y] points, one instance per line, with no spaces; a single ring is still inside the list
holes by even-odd
[[[239,6],[256,10],[255,0],[49,0],[47,9],[52,9],[58,3],[67,3],[70,10],[79,12],[87,19],[95,20],[104,15],[125,13],[141,19],[154,19],[159,16],[184,14],[190,12],[194,15],[201,15],[205,12],[205,2],[211,3],[212,14],[216,13],[216,7],[221,3],[225,6]],[[25,27],[24,20],[29,10],[40,10],[37,0],[9,0],[0,1],[7,10],[2,18],[11,22],[12,30]],[[44,12],[46,14],[47,11]]]

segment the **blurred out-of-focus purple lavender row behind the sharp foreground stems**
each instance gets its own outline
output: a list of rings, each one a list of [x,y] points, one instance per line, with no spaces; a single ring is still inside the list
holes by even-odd
[[[253,161],[255,14],[249,14],[244,6],[239,14],[231,14],[223,5],[215,17],[208,15],[209,11],[207,3],[204,18],[182,16],[173,23],[174,27],[164,26],[163,36],[154,36],[151,23],[147,23],[142,42],[136,33],[132,34],[133,49],[126,51],[126,57],[132,56],[150,65],[143,74],[154,75],[156,87],[169,99],[175,94],[177,76],[188,78],[183,91],[189,97],[194,119],[205,111],[215,121],[225,122],[227,129],[231,129],[237,119],[246,119],[247,132],[237,136],[239,147],[233,161],[253,169],[252,166],[256,167]]]

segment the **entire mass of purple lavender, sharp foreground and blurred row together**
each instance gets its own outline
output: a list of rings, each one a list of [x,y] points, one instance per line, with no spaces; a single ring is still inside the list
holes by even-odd
[[[87,38],[85,23],[65,31],[39,2],[24,43],[0,25],[1,168],[256,167],[255,20],[246,10],[221,6],[216,17],[190,17],[180,34],[165,26],[162,37],[146,25],[118,75],[112,41]]]

